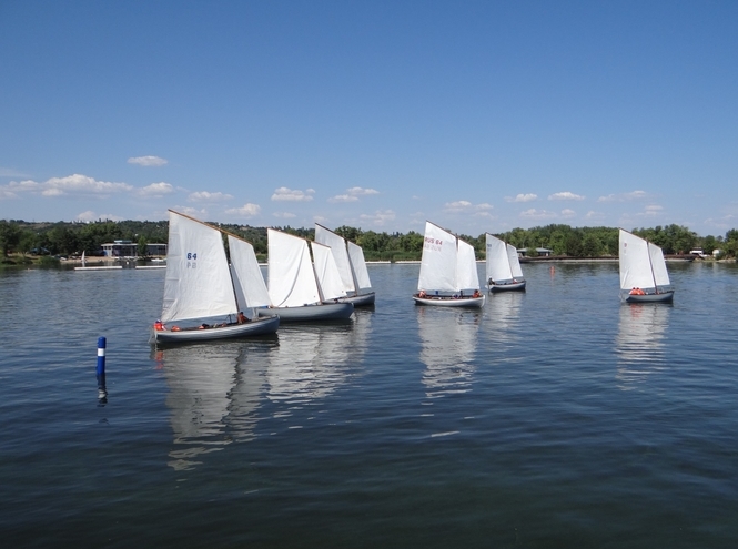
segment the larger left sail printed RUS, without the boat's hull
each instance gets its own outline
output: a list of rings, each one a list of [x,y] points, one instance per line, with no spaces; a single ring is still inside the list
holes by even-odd
[[[417,289],[456,292],[456,236],[425,222],[425,241]]]

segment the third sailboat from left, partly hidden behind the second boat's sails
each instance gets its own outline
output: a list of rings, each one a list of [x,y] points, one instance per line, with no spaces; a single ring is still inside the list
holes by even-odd
[[[338,301],[353,303],[354,307],[373,305],[375,294],[371,292],[372,282],[366,271],[362,247],[317,223],[315,224],[315,242],[330,246],[333,252],[343,281],[343,289],[346,292],[346,297],[341,297]]]

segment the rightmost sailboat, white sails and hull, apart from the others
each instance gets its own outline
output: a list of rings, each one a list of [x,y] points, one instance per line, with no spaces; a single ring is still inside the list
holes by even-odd
[[[627,303],[674,299],[664,252],[656,244],[620,228],[620,298]]]

